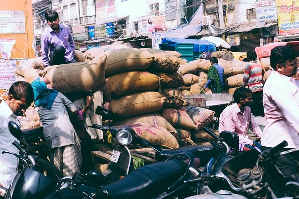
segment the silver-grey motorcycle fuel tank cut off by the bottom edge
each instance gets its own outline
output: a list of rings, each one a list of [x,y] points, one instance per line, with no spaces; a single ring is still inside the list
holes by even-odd
[[[200,194],[196,196],[190,196],[185,199],[247,199],[245,196],[239,194],[233,194],[227,190],[219,190],[216,193]]]

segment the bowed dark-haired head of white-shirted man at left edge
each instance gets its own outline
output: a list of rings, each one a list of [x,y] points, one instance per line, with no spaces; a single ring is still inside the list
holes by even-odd
[[[11,85],[8,92],[7,105],[17,116],[23,116],[33,102],[33,89],[28,82],[18,81]]]

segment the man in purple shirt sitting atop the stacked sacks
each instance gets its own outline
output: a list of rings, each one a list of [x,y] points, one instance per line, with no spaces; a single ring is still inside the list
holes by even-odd
[[[75,42],[68,26],[59,24],[58,13],[48,10],[45,14],[49,27],[41,36],[41,52],[44,67],[75,63]],[[48,51],[50,49],[50,59]]]

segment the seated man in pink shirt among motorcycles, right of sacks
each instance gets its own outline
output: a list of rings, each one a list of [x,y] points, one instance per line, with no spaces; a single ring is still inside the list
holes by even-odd
[[[245,88],[239,87],[234,92],[235,103],[227,106],[219,117],[219,132],[224,130],[238,133],[239,135],[239,150],[249,150],[261,148],[261,145],[252,141],[248,138],[248,129],[250,128],[252,132],[260,138],[262,131],[259,125],[255,122],[250,107],[252,100],[252,92]]]

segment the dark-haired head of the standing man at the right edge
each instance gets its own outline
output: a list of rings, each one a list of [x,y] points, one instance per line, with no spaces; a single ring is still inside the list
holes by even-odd
[[[290,46],[277,46],[271,50],[270,65],[282,75],[292,77],[298,68],[298,53]]]

